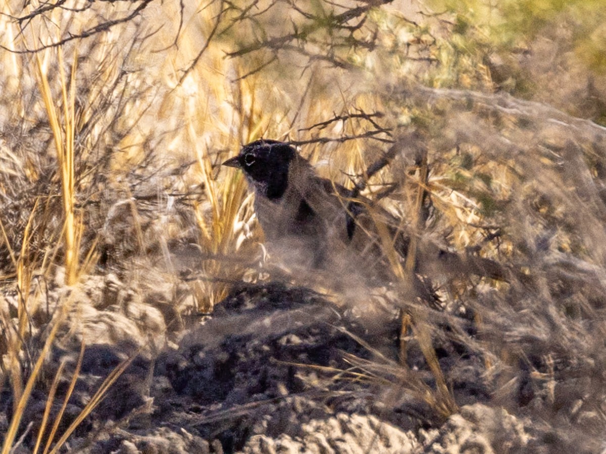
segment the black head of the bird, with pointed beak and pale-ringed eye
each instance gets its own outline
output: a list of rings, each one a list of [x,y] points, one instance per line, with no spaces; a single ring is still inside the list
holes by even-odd
[[[222,165],[242,169],[256,191],[278,200],[288,187],[288,167],[295,157],[295,148],[288,143],[261,139],[245,145],[238,156]]]

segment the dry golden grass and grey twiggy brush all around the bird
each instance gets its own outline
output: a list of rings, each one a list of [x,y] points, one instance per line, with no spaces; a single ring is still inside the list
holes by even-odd
[[[245,182],[219,166],[259,137],[349,186],[390,151],[364,194],[507,270],[433,269],[439,310],[382,289],[399,355],[347,358],[356,377],[438,426],[470,403],[442,370],[442,346],[464,346],[483,401],[603,447],[601,1],[182,3],[1,7],[2,452],[64,449],[136,355],[174,346],[239,281],[307,284],[265,262]],[[45,362],[104,343],[128,344],[123,361],[62,423],[83,354]]]

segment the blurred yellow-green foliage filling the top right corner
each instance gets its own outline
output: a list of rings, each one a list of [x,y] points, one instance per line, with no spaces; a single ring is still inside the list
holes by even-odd
[[[601,0],[434,0],[450,33],[433,85],[504,90],[605,124]],[[482,73],[486,79],[482,79]]]

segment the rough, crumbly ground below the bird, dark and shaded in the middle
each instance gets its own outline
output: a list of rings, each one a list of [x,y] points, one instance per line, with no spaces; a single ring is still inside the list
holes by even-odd
[[[76,301],[70,320],[77,317],[83,328],[79,335],[65,332],[45,364],[13,452],[32,450],[47,400],[44,383],[65,362],[51,412],[57,415],[82,338],[81,377],[59,433],[107,375],[134,359],[68,439],[69,452],[596,452],[596,442],[573,446],[569,432],[496,402],[482,359],[448,341],[436,353],[462,405],[451,415],[440,412],[431,404],[438,393],[419,347],[411,343],[406,360],[398,360],[397,312],[386,312],[379,336],[351,308],[309,289],[242,283],[212,315],[176,323],[166,300],[178,292],[164,283],[163,294],[156,283],[147,298],[116,276],[71,292],[48,285],[50,304],[38,315],[70,293]],[[14,300],[5,294],[9,306]],[[415,393],[411,383],[419,377],[426,387]],[[12,406],[5,386],[2,432]]]

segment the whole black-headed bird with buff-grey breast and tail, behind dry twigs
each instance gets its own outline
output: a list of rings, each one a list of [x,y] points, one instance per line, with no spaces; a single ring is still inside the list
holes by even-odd
[[[287,266],[330,272],[341,286],[386,285],[396,280],[393,254],[386,246],[395,249],[400,263],[405,262],[411,242],[402,222],[358,191],[318,176],[290,143],[259,139],[222,165],[244,173],[255,192],[255,213],[270,254],[281,257]],[[502,274],[491,260],[461,260],[431,242],[419,246],[419,251],[421,265],[415,266],[412,281],[416,294],[426,300],[436,298],[430,280],[420,277],[432,268],[429,262],[493,278]]]

